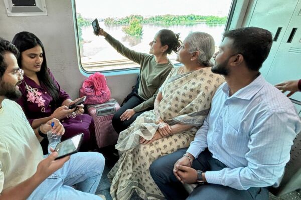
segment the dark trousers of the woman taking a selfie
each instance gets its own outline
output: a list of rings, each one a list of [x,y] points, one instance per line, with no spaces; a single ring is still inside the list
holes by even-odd
[[[144,102],[143,99],[141,99],[139,96],[134,95],[124,105],[122,105],[122,107],[114,114],[113,119],[112,119],[112,125],[118,134],[120,132],[122,132],[123,130],[125,130],[126,128],[128,128],[128,126],[130,124],[132,124],[132,122],[134,122],[136,120],[136,118],[139,115],[141,115],[143,112],[153,109],[153,108],[149,108],[147,110],[137,112],[129,120],[125,120],[125,121],[120,120],[120,116],[127,109],[132,109],[132,108],[136,107],[137,105],[140,105],[142,102]]]

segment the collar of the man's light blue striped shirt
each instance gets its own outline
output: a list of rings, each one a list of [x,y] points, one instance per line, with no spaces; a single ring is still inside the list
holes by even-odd
[[[235,94],[229,97],[230,88],[226,83],[223,86],[223,92],[227,95],[228,98],[240,98],[245,100],[250,100],[258,91],[263,87],[265,83],[264,78],[262,75],[259,75],[253,82],[248,84],[247,86],[239,89]]]

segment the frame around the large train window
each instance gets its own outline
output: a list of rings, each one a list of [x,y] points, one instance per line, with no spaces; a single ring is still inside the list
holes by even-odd
[[[78,67],[79,67],[80,72],[82,74],[84,74],[85,76],[89,76],[89,75],[91,75],[95,72],[101,72],[105,76],[138,73],[140,71],[140,67],[129,67],[129,68],[125,68],[125,69],[112,69],[112,70],[105,70],[105,71],[102,71],[102,70],[87,71],[83,67],[83,64],[82,64],[82,61],[81,61],[81,55],[80,55],[80,44],[79,44],[79,34],[78,34],[78,26],[77,26],[77,17],[76,17],[77,13],[76,13],[75,0],[71,0],[71,3],[72,3],[73,25],[74,25],[74,33],[75,33],[75,44],[76,44],[76,51],[77,51],[77,60],[78,60]],[[248,4],[248,3],[249,3],[249,0],[243,0],[243,4]],[[224,31],[229,30],[233,25],[232,24],[232,19],[233,19],[233,16],[235,14],[234,12],[236,12],[237,4],[238,4],[237,0],[232,0]],[[244,11],[244,13],[242,13],[242,14],[245,14],[245,10],[240,10],[240,11]],[[222,38],[221,41],[223,41],[223,39],[224,38]],[[131,63],[134,63],[134,62],[129,60],[129,64],[131,64]],[[174,63],[174,65],[175,65],[175,67],[177,67],[177,66],[182,66],[183,64]]]

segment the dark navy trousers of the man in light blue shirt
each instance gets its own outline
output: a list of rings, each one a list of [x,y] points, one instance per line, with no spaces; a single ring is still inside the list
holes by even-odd
[[[237,190],[216,184],[199,184],[188,194],[183,184],[173,174],[174,164],[186,152],[187,148],[160,157],[150,165],[150,174],[166,199],[204,199],[204,200],[268,200],[266,188],[252,187],[248,190]],[[218,171],[226,166],[206,149],[194,161],[192,167],[202,171]]]

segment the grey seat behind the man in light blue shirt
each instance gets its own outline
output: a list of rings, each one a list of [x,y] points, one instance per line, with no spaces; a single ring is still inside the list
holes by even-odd
[[[293,140],[290,160],[285,166],[284,176],[277,188],[270,188],[275,196],[281,196],[301,188],[301,133]]]

